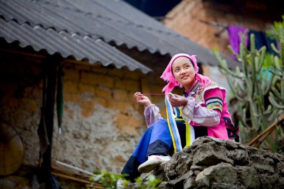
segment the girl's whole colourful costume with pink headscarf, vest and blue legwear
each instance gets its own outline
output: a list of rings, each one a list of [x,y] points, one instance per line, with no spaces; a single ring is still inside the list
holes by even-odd
[[[145,108],[144,116],[150,126],[122,171],[123,174],[129,174],[128,179],[133,180],[141,175],[138,167],[148,156],[171,156],[190,146],[197,137],[212,136],[224,140],[238,140],[239,128],[232,123],[227,109],[226,89],[208,77],[196,74],[195,83],[183,94],[188,99],[187,104],[179,108],[171,107],[167,94],[175,86],[182,87],[171,70],[172,63],[178,57],[187,57],[196,73],[198,72],[195,55],[177,54],[172,57],[161,76],[168,82],[162,90],[166,95],[167,119],[161,117],[159,108],[154,104]]]

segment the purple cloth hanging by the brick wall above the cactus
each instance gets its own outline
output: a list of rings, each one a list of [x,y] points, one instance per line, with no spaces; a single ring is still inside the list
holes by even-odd
[[[230,45],[232,46],[232,49],[236,53],[240,53],[240,44],[242,42],[241,38],[241,33],[244,33],[247,30],[245,27],[239,27],[239,26],[234,26],[234,25],[229,25],[228,26],[228,33],[229,33],[229,42]],[[249,44],[249,35],[248,32],[245,33],[246,35],[246,47],[248,47]],[[237,58],[234,55],[231,55],[232,59],[237,60]]]

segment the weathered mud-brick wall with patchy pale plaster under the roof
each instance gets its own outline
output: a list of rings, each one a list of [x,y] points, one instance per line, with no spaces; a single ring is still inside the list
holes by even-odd
[[[14,127],[22,138],[24,161],[37,165],[42,59],[9,53],[1,57],[0,120]],[[119,174],[146,129],[143,106],[136,103],[133,94],[143,90],[142,81],[147,93],[160,93],[163,85],[155,81],[159,77],[84,61],[63,62],[62,66],[62,134],[58,134],[55,112],[52,161],[90,172]],[[164,114],[163,96],[151,100]]]

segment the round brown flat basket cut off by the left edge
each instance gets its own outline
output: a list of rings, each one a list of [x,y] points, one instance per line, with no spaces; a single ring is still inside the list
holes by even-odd
[[[10,175],[22,164],[24,147],[16,130],[0,122],[0,175]]]

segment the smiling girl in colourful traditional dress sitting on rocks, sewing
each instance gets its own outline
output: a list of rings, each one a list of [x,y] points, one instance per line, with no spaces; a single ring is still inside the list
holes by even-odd
[[[150,172],[197,137],[238,140],[239,128],[231,121],[226,89],[198,74],[198,69],[195,55],[181,53],[171,58],[161,76],[168,82],[162,90],[166,95],[167,119],[162,119],[159,108],[148,97],[134,94],[137,102],[146,107],[144,115],[150,126],[122,171],[129,175],[127,179],[133,181],[141,173]],[[183,96],[170,93],[175,86],[184,88]],[[175,116],[181,118],[171,117],[172,107],[179,107]]]

